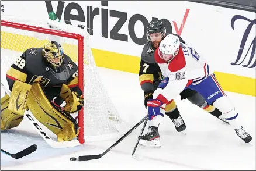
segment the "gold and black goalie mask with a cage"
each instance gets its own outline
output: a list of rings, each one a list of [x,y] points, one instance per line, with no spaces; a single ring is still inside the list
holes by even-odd
[[[50,41],[44,45],[43,58],[57,71],[64,59],[63,48],[56,41]]]

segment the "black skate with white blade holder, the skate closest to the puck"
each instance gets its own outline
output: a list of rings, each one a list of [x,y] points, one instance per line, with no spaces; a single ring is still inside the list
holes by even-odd
[[[139,144],[146,147],[161,147],[158,127],[149,126],[148,132],[140,137]]]

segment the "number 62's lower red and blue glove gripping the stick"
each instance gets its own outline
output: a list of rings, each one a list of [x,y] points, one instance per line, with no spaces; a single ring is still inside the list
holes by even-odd
[[[162,106],[162,102],[160,100],[148,99],[147,106],[148,120],[152,120],[157,115],[164,117],[164,114],[160,112],[160,106]]]

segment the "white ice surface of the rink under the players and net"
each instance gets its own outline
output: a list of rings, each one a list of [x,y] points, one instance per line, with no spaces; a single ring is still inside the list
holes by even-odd
[[[137,74],[98,68],[101,79],[129,130],[145,115],[143,91]],[[1,79],[5,79],[2,77]],[[1,90],[2,91],[2,90]],[[2,91],[3,92],[3,91]],[[138,127],[101,159],[70,161],[70,157],[101,154],[115,140],[85,143],[80,147],[49,147],[26,120],[1,132],[1,149],[18,152],[37,144],[37,151],[13,159],[1,153],[2,170],[255,170],[255,97],[226,92],[236,106],[244,129],[252,136],[245,144],[231,127],[189,101],[175,98],[186,123],[186,134],[178,133],[169,117],[160,124],[161,148],[137,147],[138,161],[131,154],[140,133]]]

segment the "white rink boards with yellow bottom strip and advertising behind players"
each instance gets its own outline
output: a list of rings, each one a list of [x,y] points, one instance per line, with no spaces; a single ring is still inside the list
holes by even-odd
[[[209,61],[224,90],[256,95],[253,12],[188,1],[1,1],[1,15],[40,20],[51,10],[87,29],[97,66],[131,73],[139,72],[148,22],[164,18],[167,31]]]

